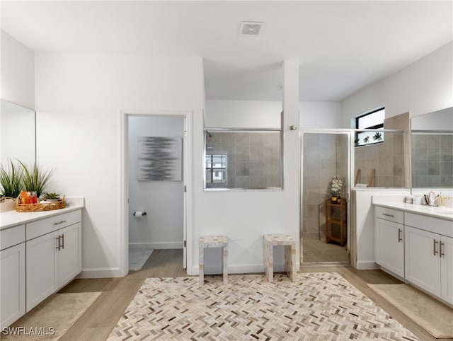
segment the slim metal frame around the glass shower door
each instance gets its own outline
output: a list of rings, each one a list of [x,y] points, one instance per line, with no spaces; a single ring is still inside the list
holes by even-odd
[[[354,169],[354,165],[352,164],[352,160],[354,158],[354,147],[352,146],[352,129],[299,129],[299,148],[300,148],[300,160],[299,160],[299,167],[300,167],[300,188],[299,188],[299,197],[300,197],[300,205],[299,205],[299,241],[302,240],[302,229],[304,224],[304,219],[302,216],[304,214],[304,134],[345,134],[348,137],[348,171],[346,175],[346,179],[348,180],[347,189],[347,200],[348,200],[348,207],[347,207],[347,214],[348,214],[348,221],[346,224],[346,229],[348,231],[348,240],[346,241],[346,245],[348,248],[348,264],[351,264],[352,260],[352,253],[355,253],[355,250],[352,250],[351,246],[351,181],[352,181],[352,173],[351,170]],[[300,243],[300,264],[302,265],[319,265],[320,263],[305,263],[303,262],[303,242]]]

